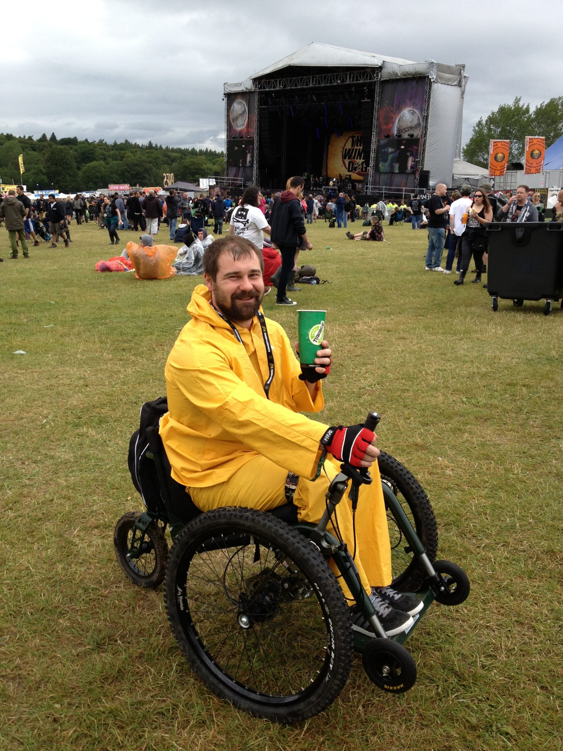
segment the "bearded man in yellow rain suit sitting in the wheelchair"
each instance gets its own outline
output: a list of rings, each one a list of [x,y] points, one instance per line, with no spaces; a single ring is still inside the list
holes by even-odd
[[[315,367],[302,372],[285,331],[260,310],[263,257],[244,237],[215,240],[203,255],[203,271],[205,285],[191,295],[191,321],[165,369],[169,412],[160,434],[173,478],[201,511],[268,511],[292,499],[300,520],[318,523],[343,458],[372,466],[374,481],[360,490],[355,544],[349,499],[338,508],[339,530],[356,550],[363,587],[387,635],[405,631],[423,604],[388,586],[391,550],[376,436],[363,425],[329,427],[300,415],[324,407],[328,342],[321,342]],[[332,457],[324,461],[327,454]],[[335,533],[332,524],[329,529]],[[361,613],[352,628],[376,636]]]

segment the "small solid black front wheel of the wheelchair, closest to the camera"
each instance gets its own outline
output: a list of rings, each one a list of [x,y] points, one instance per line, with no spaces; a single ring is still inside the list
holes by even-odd
[[[403,694],[417,680],[417,665],[411,653],[393,639],[374,639],[362,652],[363,669],[380,689]]]

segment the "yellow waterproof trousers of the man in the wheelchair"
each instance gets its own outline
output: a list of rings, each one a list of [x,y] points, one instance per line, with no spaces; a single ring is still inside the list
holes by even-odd
[[[324,514],[325,496],[330,481],[338,474],[339,464],[327,459],[320,477],[315,480],[300,478],[294,495],[294,504],[300,521],[318,523]],[[360,499],[356,511],[356,566],[360,572],[362,584],[369,593],[370,587],[385,587],[391,583],[391,549],[387,514],[381,479],[377,464],[370,469],[373,478],[371,485],[360,487]],[[201,511],[212,511],[223,506],[245,506],[258,511],[287,503],[285,499],[285,479],[287,469],[282,469],[269,459],[257,456],[238,469],[227,481],[209,487],[188,488],[191,498]],[[334,515],[333,515],[334,518]],[[354,553],[354,532],[352,528],[352,509],[348,494],[336,507],[342,539]],[[328,531],[336,535],[331,524]],[[331,562],[332,564],[332,562]],[[331,566],[332,568],[333,566]],[[342,579],[345,596],[351,598],[348,587]]]

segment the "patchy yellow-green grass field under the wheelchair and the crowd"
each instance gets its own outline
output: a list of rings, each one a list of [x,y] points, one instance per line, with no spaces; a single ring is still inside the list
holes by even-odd
[[[379,692],[357,659],[303,725],[215,698],[180,656],[161,590],[128,584],[112,544],[117,518],[142,506],[128,439],[164,394],[200,278],[95,273],[113,249],[92,224],[72,225],[70,249],[14,263],[2,228],[2,751],[563,747],[563,313],[493,313],[481,285],[424,271],[426,232],[407,225],[386,227],[389,245],[324,223],[310,234],[301,262],[330,284],[295,299],[327,308],[334,352],[319,418],[381,412],[379,445],[429,493],[438,554],[468,572],[470,599],[436,605],[409,639],[408,694]],[[295,309],[273,298],[266,316],[293,341]]]

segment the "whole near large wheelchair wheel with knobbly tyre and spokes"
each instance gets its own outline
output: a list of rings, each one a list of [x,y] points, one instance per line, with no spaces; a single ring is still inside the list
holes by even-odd
[[[318,549],[270,514],[231,507],[191,521],[170,550],[164,599],[194,671],[240,709],[298,722],[348,680],[342,590]]]

